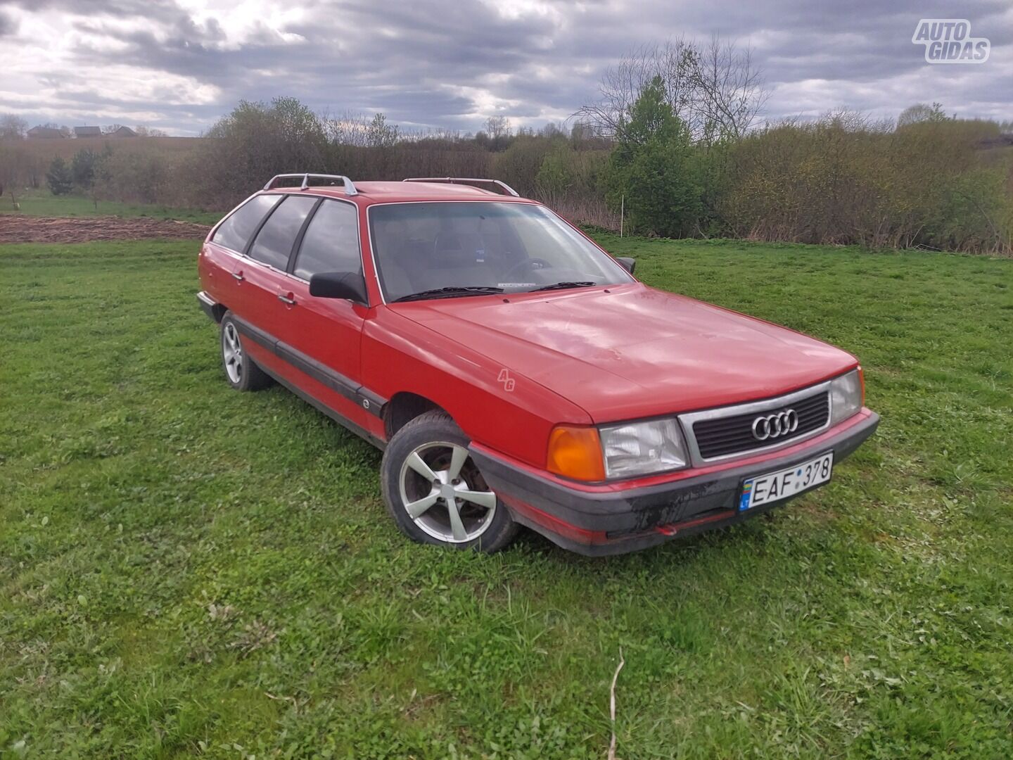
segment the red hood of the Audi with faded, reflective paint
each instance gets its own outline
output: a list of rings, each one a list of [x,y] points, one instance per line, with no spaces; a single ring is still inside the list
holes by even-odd
[[[797,390],[854,367],[786,327],[640,284],[416,301],[399,314],[583,408],[596,423]]]

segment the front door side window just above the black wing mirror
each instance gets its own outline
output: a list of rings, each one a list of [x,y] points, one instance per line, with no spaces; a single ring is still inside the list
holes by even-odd
[[[293,274],[309,280],[321,272],[362,271],[356,207],[340,201],[324,201],[306,228]]]

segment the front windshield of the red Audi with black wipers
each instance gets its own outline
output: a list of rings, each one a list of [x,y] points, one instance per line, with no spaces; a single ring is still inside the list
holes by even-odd
[[[441,289],[432,297],[632,282],[611,256],[542,206],[383,204],[369,215],[387,301]]]

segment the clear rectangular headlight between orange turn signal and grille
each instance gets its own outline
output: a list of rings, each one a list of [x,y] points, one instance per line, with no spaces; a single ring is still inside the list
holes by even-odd
[[[646,475],[685,467],[686,443],[674,419],[599,429],[609,478]]]

